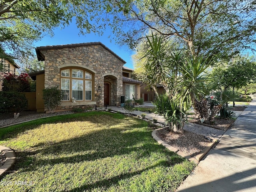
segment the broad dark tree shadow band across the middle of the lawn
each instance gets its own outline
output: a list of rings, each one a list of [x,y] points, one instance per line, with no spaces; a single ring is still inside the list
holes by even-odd
[[[20,156],[20,159],[23,159],[24,161],[28,159],[30,160],[30,157],[36,154],[40,154],[40,156],[53,157],[50,159],[33,160],[32,164],[35,167],[38,165],[46,164],[54,165],[58,163],[79,163],[82,161],[94,161],[97,159],[113,157],[116,155],[130,154],[133,151],[138,153],[136,158],[139,159],[149,156],[152,152],[162,152],[163,150],[163,148],[154,141],[147,142],[142,146],[138,146],[142,140],[153,140],[151,138],[151,132],[149,131],[136,131],[127,133],[122,131],[123,130],[121,129],[112,128],[109,130],[101,130],[91,134],[83,135],[81,137],[64,140],[58,143],[40,143],[34,146],[40,149],[31,152],[17,152],[17,156]],[[77,154],[79,152],[81,154]],[[63,157],[63,154],[70,155],[72,153],[76,153],[76,155],[71,157]],[[172,155],[176,154],[170,152],[170,156]],[[180,163],[183,161],[182,158],[178,160],[178,157],[179,156],[177,156],[175,163]],[[20,163],[20,165],[22,165],[22,162]]]

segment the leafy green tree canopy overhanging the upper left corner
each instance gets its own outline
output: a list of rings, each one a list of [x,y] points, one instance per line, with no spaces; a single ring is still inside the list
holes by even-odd
[[[0,47],[15,57],[24,55],[35,40],[73,18],[81,34],[100,32],[104,27],[100,18],[106,12],[102,6],[94,0],[0,0]]]

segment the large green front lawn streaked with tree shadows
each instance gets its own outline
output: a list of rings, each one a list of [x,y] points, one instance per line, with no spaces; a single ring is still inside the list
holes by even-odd
[[[159,145],[147,126],[88,112],[2,128],[0,145],[13,148],[17,162],[0,178],[10,184],[1,192],[175,191],[195,164]]]

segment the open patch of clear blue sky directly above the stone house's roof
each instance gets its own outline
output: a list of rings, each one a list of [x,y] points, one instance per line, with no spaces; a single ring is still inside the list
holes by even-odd
[[[111,38],[108,38],[111,36]],[[134,68],[132,64],[131,55],[134,54],[128,46],[120,46],[115,40],[112,39],[113,35],[110,30],[106,30],[102,36],[98,34],[86,34],[85,36],[79,35],[79,30],[76,27],[76,24],[72,22],[69,26],[64,29],[56,28],[54,30],[54,36],[45,36],[42,40],[35,42],[35,46],[48,46],[48,45],[66,45],[66,44],[75,44],[75,43],[87,43],[87,42],[102,42],[115,54],[120,56],[123,60],[126,61],[124,66],[129,68]]]

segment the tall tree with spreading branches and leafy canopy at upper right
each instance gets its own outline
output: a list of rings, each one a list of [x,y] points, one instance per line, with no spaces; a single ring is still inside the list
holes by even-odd
[[[113,15],[124,12],[111,26],[118,29],[120,22],[129,26],[117,31],[120,42],[132,47],[149,30],[175,39],[193,56],[227,58],[255,44],[254,0],[110,0],[109,4]]]

